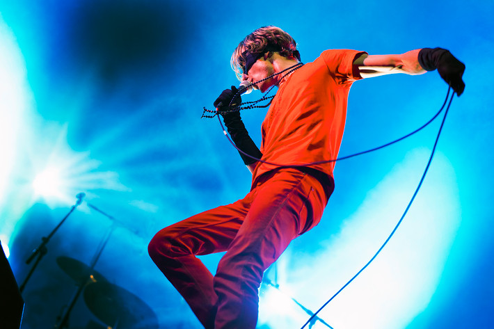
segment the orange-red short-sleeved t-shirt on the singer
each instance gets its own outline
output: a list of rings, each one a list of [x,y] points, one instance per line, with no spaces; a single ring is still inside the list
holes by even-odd
[[[262,123],[262,160],[283,166],[336,159],[342,142],[346,104],[356,50],[326,50],[294,71],[278,89]],[[335,162],[308,166],[333,177]],[[279,168],[259,162],[253,182]]]

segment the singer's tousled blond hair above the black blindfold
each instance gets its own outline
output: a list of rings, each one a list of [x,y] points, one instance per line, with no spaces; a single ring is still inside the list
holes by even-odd
[[[292,57],[296,51],[296,42],[288,33],[276,26],[262,26],[247,35],[233,51],[230,65],[237,79],[241,80],[246,65],[246,55],[261,54],[267,45],[280,47],[282,50],[279,54],[284,57]]]

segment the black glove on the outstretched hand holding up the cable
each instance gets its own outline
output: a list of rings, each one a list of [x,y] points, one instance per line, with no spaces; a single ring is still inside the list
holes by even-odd
[[[465,83],[461,77],[465,72],[465,64],[456,59],[449,50],[422,48],[419,51],[418,60],[424,70],[433,71],[438,69],[441,78],[453,88],[456,95],[463,93]]]

